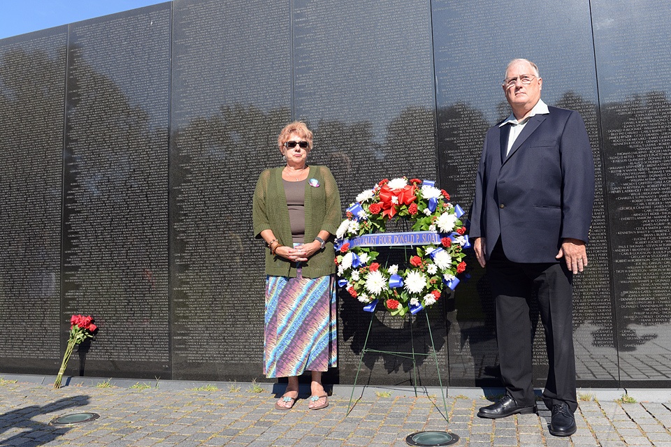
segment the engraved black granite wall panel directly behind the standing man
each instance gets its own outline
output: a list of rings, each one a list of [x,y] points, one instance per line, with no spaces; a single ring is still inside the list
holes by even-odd
[[[543,1],[522,9],[516,5],[502,1],[482,8],[481,3],[433,0],[442,186],[452,193],[454,202],[470,206],[486,129],[510,115],[501,89],[505,67],[516,57],[535,61],[543,78],[544,101],[580,112],[593,147],[596,194],[589,268],[574,280],[577,376],[583,386],[592,381],[615,386],[617,359],[589,2]],[[520,39],[520,24],[534,38]],[[472,277],[457,288],[456,304],[448,315],[450,385],[499,384],[489,283],[475,256],[467,262]],[[537,309],[532,313],[537,321],[535,379],[542,386],[547,374],[544,334]]]

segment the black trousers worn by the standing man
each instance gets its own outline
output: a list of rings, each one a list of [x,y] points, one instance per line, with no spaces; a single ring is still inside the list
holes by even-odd
[[[496,339],[501,376],[518,404],[533,405],[533,325],[529,309],[533,291],[545,329],[549,362],[543,400],[549,409],[565,402],[577,409],[573,351],[572,273],[565,263],[514,263],[500,239],[487,261],[487,275],[496,300]]]

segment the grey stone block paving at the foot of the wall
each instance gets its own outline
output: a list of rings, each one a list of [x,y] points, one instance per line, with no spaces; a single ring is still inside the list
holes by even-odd
[[[267,383],[101,379],[55,390],[51,382],[0,378],[0,446],[406,446],[412,432],[447,430],[460,437],[457,446],[671,447],[668,390],[647,390],[660,402],[637,403],[614,402],[595,390],[579,393],[585,400],[576,413],[577,433],[557,438],[547,430],[550,413],[542,402],[538,415],[478,418],[477,409],[489,404],[479,388],[448,390],[447,423],[440,395],[438,401],[431,395],[439,388],[424,388],[419,397],[412,388],[357,388],[359,400],[347,415],[347,386],[333,388],[326,409],[310,411],[299,399],[291,411],[277,411],[272,390],[281,387]],[[83,411],[100,418],[49,425]]]

